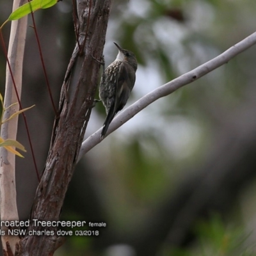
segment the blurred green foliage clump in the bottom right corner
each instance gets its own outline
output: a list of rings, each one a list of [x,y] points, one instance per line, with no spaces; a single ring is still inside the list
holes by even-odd
[[[213,214],[209,221],[200,221],[195,227],[198,244],[191,249],[166,250],[163,256],[253,256],[255,245],[248,245],[249,234],[242,227],[225,224],[220,215]]]

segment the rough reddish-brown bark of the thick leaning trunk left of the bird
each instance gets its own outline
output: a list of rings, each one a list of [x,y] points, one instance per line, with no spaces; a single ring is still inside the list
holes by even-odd
[[[53,231],[54,227],[34,226],[32,220],[59,220],[61,207],[72,178],[77,156],[90,118],[97,88],[111,1],[77,1],[79,42],[68,66],[61,89],[59,115],[52,131],[51,148],[45,170],[36,189],[30,226],[21,241],[20,255],[52,255],[62,237],[29,236],[29,232]],[[96,59],[96,60],[95,60]]]

